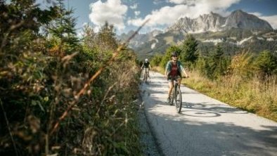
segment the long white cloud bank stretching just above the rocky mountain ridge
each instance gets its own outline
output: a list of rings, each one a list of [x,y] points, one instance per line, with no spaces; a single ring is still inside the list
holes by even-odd
[[[150,19],[146,24],[148,27],[155,27],[157,25],[169,25],[181,17],[197,18],[199,15],[210,13],[219,13],[221,15],[228,15],[226,11],[232,4],[238,3],[240,0],[168,0],[171,3],[177,4],[175,6],[165,6],[160,10],[152,11],[145,18],[136,18],[128,20],[129,25],[139,26],[145,20]]]

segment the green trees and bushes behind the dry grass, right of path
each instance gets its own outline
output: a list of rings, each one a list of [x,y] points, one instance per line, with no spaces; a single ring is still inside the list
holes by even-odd
[[[151,58],[151,63],[165,67],[171,60],[172,51],[179,53],[179,60],[189,70],[198,70],[202,76],[211,80],[219,79],[224,75],[236,72],[240,76],[259,76],[261,79],[277,74],[277,53],[264,50],[260,53],[251,53],[247,48],[237,53],[224,53],[220,44],[214,46],[214,50],[202,53],[198,50],[198,41],[192,34],[188,34],[179,46],[170,46],[165,55],[156,55]]]

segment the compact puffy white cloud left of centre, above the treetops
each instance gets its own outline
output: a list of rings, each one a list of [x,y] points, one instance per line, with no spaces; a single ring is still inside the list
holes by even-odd
[[[104,3],[99,0],[90,4],[89,7],[91,9],[89,19],[96,25],[96,28],[101,27],[105,21],[114,25],[118,30],[125,28],[124,15],[128,7],[122,4],[121,0],[108,0]]]

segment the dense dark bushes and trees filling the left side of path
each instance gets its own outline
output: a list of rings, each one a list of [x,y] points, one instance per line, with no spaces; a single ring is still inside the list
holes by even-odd
[[[140,155],[139,67],[112,25],[0,1],[0,155]]]

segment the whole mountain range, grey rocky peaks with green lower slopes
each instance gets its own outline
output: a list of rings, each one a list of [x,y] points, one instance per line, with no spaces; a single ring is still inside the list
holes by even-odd
[[[183,17],[172,23],[164,32],[155,30],[137,34],[129,46],[140,57],[150,57],[165,53],[171,45],[181,44],[189,33],[198,40],[202,53],[208,53],[216,44],[221,44],[226,53],[234,53],[238,48],[248,48],[254,53],[265,49],[277,51],[277,31],[266,20],[241,10],[233,11],[227,17],[211,12],[195,19]],[[119,39],[124,41],[133,33],[121,34]]]

